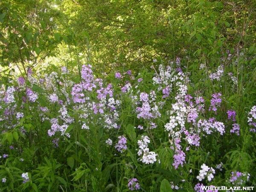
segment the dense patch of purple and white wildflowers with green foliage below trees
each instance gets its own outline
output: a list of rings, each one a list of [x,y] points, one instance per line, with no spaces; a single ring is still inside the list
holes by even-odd
[[[154,59],[140,73],[83,64],[14,78],[0,97],[1,190],[252,186],[256,71],[240,55],[211,69]]]

